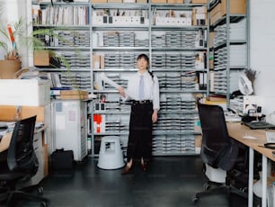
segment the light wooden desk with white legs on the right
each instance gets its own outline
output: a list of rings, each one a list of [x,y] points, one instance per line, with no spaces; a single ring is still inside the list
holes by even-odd
[[[266,143],[265,130],[250,130],[249,127],[244,126],[240,122],[227,122],[227,130],[229,136],[233,139],[243,143],[249,147],[249,181],[248,181],[248,206],[253,207],[253,162],[254,162],[254,150],[262,154],[262,207],[267,205],[266,203],[266,189],[267,189],[267,158],[275,161],[275,157],[272,156],[272,150],[270,148],[262,148]],[[244,135],[250,135],[258,139],[244,139]]]

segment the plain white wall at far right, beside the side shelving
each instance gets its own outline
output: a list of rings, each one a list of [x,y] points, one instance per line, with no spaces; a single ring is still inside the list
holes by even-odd
[[[275,111],[275,1],[247,0],[251,5],[251,67],[260,74],[254,91],[262,97],[263,113]]]

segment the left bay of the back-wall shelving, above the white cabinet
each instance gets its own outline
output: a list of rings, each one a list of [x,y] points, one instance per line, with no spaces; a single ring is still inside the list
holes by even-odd
[[[63,86],[92,92],[90,4],[32,2],[32,5],[40,7],[40,18],[33,18],[33,30],[53,31],[40,39],[46,49],[66,59],[61,61],[61,67],[41,67],[41,70],[58,73]]]

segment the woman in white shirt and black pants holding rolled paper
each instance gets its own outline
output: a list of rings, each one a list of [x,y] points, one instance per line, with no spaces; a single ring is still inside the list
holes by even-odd
[[[137,57],[138,71],[129,78],[128,94],[122,86],[119,88],[120,95],[132,101],[127,164],[122,175],[129,173],[134,159],[140,159],[142,169],[146,170],[152,157],[152,128],[159,110],[159,85],[157,77],[147,70],[148,67],[149,58],[146,54],[140,54]]]

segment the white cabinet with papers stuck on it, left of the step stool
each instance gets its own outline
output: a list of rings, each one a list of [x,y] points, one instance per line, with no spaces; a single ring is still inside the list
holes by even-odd
[[[87,103],[54,100],[51,107],[54,149],[73,150],[75,161],[81,161],[87,155]]]

